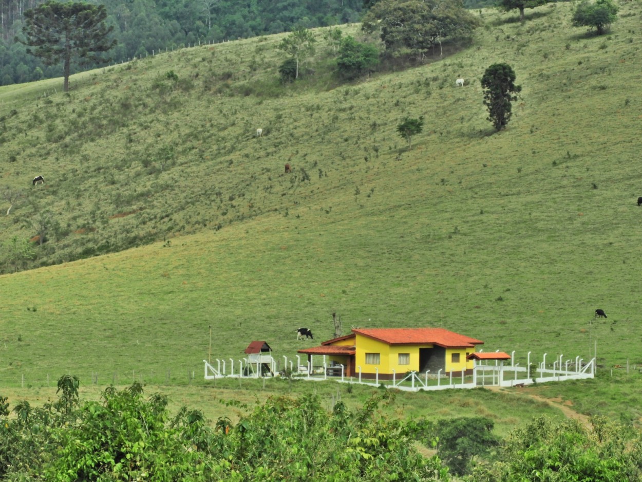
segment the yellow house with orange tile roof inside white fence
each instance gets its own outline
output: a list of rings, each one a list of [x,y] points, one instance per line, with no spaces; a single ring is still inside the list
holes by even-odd
[[[361,373],[363,378],[392,379],[408,371],[471,373],[474,361],[469,355],[478,344],[483,341],[444,328],[355,328],[299,353],[327,355],[329,365],[342,364],[347,377]]]

